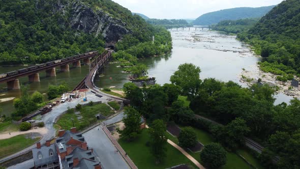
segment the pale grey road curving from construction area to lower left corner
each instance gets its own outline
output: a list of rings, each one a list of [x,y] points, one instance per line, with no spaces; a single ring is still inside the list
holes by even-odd
[[[102,103],[107,102],[107,100],[106,100],[107,97],[104,96],[102,98],[99,98],[99,97],[95,96],[95,94],[92,93],[91,91],[87,91],[86,95],[87,95],[88,101],[94,101],[94,102],[102,101]],[[40,140],[41,144],[44,144],[46,142],[46,140],[49,140],[49,139],[52,139],[55,137],[55,129],[53,127],[53,124],[54,124],[56,118],[58,116],[62,115],[62,113],[64,111],[68,110],[67,107],[74,108],[78,103],[85,104],[86,102],[83,102],[83,97],[81,97],[79,99],[75,99],[75,100],[73,99],[71,102],[65,102],[65,103],[59,104],[57,106],[54,106],[52,108],[52,111],[50,111],[46,115],[44,115],[41,120],[37,121],[37,122],[44,122],[45,127],[48,130],[48,132],[46,134],[44,134],[43,137],[41,138],[41,140]],[[15,153],[8,157],[2,158],[2,159],[0,159],[0,163],[6,161],[8,159],[17,157],[28,151],[31,151],[35,147],[36,147],[36,145],[30,146],[30,147],[23,149],[22,151],[19,151],[18,153]]]

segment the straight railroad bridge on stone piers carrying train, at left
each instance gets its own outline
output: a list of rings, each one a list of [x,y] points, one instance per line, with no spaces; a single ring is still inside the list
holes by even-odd
[[[69,72],[69,64],[73,67],[81,67],[81,61],[84,64],[90,64],[91,58],[97,57],[98,51],[91,51],[83,54],[78,54],[73,57],[64,58],[61,60],[47,62],[45,64],[35,65],[28,68],[0,74],[0,83],[7,82],[8,90],[20,89],[20,77],[28,76],[29,82],[39,82],[39,72],[46,71],[47,77],[56,76],[55,68],[60,67],[61,71]]]

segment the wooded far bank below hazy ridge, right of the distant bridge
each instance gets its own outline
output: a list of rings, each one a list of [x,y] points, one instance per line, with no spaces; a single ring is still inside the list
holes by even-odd
[[[260,18],[246,18],[239,20],[223,20],[218,24],[211,25],[213,30],[225,32],[227,34],[237,34],[249,31]]]

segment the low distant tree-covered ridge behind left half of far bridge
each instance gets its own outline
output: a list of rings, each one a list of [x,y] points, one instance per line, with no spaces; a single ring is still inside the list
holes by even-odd
[[[164,26],[166,28],[190,26],[184,19],[148,19],[147,23]]]

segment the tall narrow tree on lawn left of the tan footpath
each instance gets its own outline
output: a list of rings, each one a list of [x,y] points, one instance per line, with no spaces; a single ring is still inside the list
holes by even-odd
[[[163,120],[153,121],[149,128],[151,153],[155,157],[156,163],[161,163],[166,157],[166,124]]]

